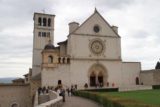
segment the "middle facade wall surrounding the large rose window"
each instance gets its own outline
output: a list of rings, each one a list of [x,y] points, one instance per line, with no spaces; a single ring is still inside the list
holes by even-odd
[[[98,57],[90,51],[89,43],[91,40],[99,38],[104,42],[105,50]],[[87,35],[71,35],[69,38],[70,55],[73,58],[89,58],[89,59],[121,59],[120,38],[98,37]]]

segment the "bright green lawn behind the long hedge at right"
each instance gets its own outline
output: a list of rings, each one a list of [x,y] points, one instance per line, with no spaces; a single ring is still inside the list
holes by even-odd
[[[130,99],[140,101],[145,104],[160,106],[160,90],[143,90],[128,92],[100,92],[102,96],[120,97],[122,99]]]

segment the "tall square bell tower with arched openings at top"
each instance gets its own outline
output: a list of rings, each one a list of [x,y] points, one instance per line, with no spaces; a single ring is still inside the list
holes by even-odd
[[[54,42],[54,17],[52,14],[34,13],[32,76],[40,73],[41,52],[48,41]]]

